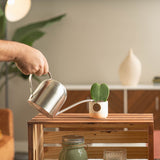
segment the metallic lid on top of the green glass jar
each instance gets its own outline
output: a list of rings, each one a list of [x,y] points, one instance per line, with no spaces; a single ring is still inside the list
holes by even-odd
[[[84,143],[84,137],[78,135],[63,136],[62,143],[70,143],[70,144]]]

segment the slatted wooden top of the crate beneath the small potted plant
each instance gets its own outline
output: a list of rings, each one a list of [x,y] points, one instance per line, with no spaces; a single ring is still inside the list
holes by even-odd
[[[152,123],[152,114],[109,114],[106,119],[90,118],[88,114],[65,113],[55,118],[47,118],[44,115],[38,115],[32,118],[28,123]]]

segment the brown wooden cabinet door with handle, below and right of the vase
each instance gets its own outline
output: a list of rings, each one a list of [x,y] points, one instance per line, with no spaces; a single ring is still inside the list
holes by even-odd
[[[156,98],[158,101],[156,104]],[[156,108],[158,105],[158,108]],[[153,113],[154,128],[160,129],[160,91],[159,90],[129,90],[129,113]]]

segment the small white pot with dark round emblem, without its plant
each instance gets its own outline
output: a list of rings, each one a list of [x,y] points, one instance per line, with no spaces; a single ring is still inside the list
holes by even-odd
[[[93,118],[106,118],[108,116],[108,101],[89,102],[89,115]]]

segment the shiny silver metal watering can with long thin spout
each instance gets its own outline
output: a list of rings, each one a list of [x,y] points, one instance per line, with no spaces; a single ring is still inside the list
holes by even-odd
[[[49,118],[53,118],[81,103],[93,101],[86,99],[72,104],[71,106],[60,111],[62,105],[67,99],[67,90],[63,84],[54,80],[50,72],[49,79],[42,81],[33,92],[32,74],[29,75],[30,97],[28,102],[39,112]]]

